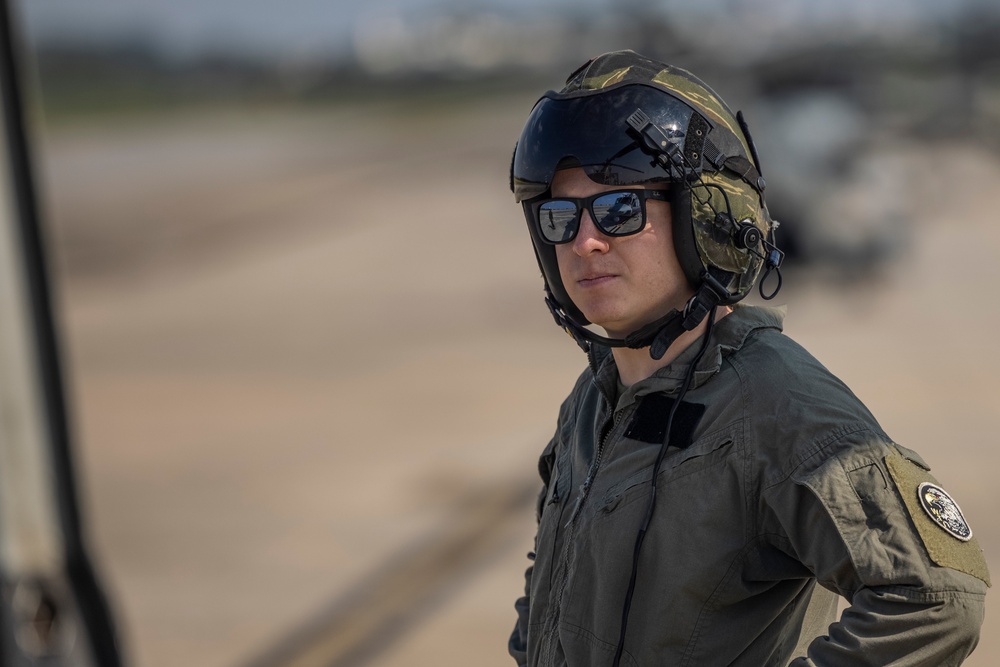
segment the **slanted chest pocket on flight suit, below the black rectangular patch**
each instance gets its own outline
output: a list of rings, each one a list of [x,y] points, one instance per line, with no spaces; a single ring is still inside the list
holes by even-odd
[[[683,449],[669,447],[660,465],[657,486],[669,485],[690,475],[695,475],[718,465],[737,450],[736,428],[716,431]],[[656,453],[652,457],[655,460]],[[598,504],[599,514],[611,514],[619,507],[631,503],[639,497],[646,497],[649,481],[653,474],[652,463],[608,488]],[[711,493],[712,486],[706,484],[704,493]]]

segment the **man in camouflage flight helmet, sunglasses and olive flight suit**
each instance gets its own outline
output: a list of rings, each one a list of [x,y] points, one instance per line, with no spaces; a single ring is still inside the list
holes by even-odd
[[[958,505],[779,311],[737,305],[782,257],[742,116],[605,54],[536,104],[511,187],[590,360],[539,462],[517,662],[960,664],[989,573]]]

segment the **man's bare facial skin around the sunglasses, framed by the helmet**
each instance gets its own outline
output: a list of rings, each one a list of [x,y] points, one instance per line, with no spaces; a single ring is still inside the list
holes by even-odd
[[[561,169],[552,179],[553,197],[620,189],[595,183],[579,168]],[[647,200],[646,227],[631,236],[601,233],[583,211],[576,238],[556,246],[556,259],[573,303],[617,338],[681,309],[694,294],[674,252],[666,202]]]

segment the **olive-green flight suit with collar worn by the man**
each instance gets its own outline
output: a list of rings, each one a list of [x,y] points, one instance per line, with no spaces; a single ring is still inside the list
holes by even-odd
[[[781,326],[750,306],[720,319],[669,436],[700,342],[622,392],[592,350],[539,461],[518,664],[611,664],[667,437],[622,665],[940,667],[972,651],[989,573],[957,504]]]

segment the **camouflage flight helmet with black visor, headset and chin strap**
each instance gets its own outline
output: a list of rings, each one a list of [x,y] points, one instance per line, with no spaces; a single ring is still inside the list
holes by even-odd
[[[531,204],[550,195],[567,163],[604,185],[666,184],[677,259],[694,295],[623,338],[602,336],[573,303],[554,247],[541,238]],[[763,267],[777,272],[783,253],[764,203],[766,184],[742,113],[694,75],[633,51],[604,54],[574,72],[562,91],[535,104],[518,140],[511,189],[522,203],[556,323],[589,350],[592,344],[650,348],[660,359],[685,331],[719,305],[745,297]]]

